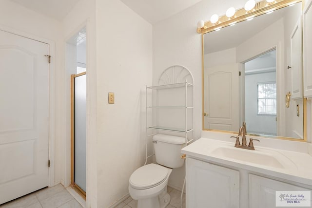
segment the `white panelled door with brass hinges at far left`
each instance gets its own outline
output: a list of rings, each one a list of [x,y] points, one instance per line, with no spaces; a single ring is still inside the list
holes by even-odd
[[[49,45],[0,31],[0,204],[48,186]]]

